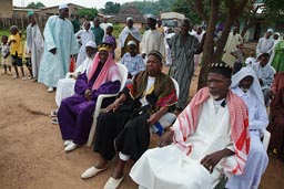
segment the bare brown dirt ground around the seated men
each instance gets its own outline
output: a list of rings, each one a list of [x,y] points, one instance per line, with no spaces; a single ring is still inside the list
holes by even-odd
[[[191,95],[196,91],[196,75],[193,83]],[[49,117],[50,112],[57,108],[54,93],[47,93],[45,86],[32,81],[0,75],[0,94],[1,189],[103,188],[113,166],[94,178],[80,178],[98,156],[87,146],[64,153],[59,127],[52,125]],[[136,188],[128,176],[130,166],[120,188]],[[270,158],[260,188],[283,188],[283,178],[284,164]]]

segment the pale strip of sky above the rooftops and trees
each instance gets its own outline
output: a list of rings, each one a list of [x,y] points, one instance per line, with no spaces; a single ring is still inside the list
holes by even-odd
[[[13,6],[17,7],[26,7],[30,2],[42,2],[47,7],[51,6],[59,6],[61,3],[74,3],[78,6],[83,6],[87,8],[104,8],[105,2],[112,1],[112,2],[119,2],[119,3],[124,3],[124,2],[131,2],[133,0],[13,0]],[[138,0],[136,0],[138,1]]]

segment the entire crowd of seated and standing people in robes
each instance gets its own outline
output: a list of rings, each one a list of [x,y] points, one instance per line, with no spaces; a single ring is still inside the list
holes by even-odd
[[[29,12],[24,45],[21,31],[12,25],[11,35],[1,38],[1,60],[3,74],[10,75],[13,67],[14,78],[21,73],[22,80],[33,78],[48,92],[57,91],[52,123],[59,124],[67,153],[87,143],[98,96],[120,92],[103,102],[93,146],[99,161],[82,179],[106,170],[118,154],[104,189],[119,188],[129,160],[135,162],[130,176],[141,189],[213,188],[223,174],[230,177],[229,189],[258,187],[268,165],[261,140],[264,129],[272,134],[268,154],[284,153],[284,42],[280,33],[273,35],[268,29],[255,53],[245,59],[243,38],[233,28],[222,62],[209,65],[207,86],[189,103],[191,81],[202,62],[202,27],[195,31],[184,19],[179,31],[173,31],[148,14],[143,35],[133,18],[128,18],[115,39],[106,18],[102,23],[94,18],[82,24],[78,15],[72,21],[68,18],[69,7],[59,6],[59,14],[51,15],[41,32],[34,13]],[[114,62],[118,46],[119,64],[128,69],[129,78],[122,87],[125,75]],[[163,66],[169,66],[168,75]],[[149,127],[168,113],[175,113],[176,120],[162,133],[160,147],[148,150]]]

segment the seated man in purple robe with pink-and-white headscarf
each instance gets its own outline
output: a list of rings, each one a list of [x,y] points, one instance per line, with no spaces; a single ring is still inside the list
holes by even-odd
[[[71,151],[88,140],[98,96],[114,94],[120,90],[121,75],[110,55],[111,45],[102,43],[98,49],[99,53],[89,73],[84,72],[75,82],[75,94],[64,98],[59,107],[58,120],[65,151]]]

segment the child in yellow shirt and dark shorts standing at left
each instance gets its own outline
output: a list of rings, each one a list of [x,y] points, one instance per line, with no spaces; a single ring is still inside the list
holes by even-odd
[[[22,43],[19,34],[19,29],[16,25],[10,28],[11,35],[8,39],[10,45],[10,54],[12,56],[12,65],[14,67],[16,75],[13,78],[19,77],[18,66],[21,69],[22,78],[24,80],[24,72],[22,67]]]

